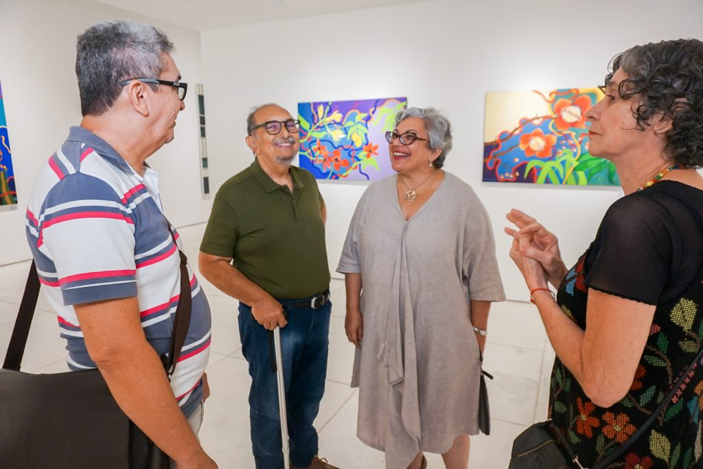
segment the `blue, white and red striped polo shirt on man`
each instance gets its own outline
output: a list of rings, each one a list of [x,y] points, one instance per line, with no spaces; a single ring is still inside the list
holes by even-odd
[[[27,207],[27,240],[67,340],[72,370],[96,367],[74,304],[136,296],[146,340],[157,354],[168,352],[181,295],[181,240],[174,229],[176,247],[157,183],[153,169],[145,166],[144,175],[137,174],[107,142],[82,127],[71,127],[37,176]],[[190,267],[188,276],[191,325],[171,380],[186,416],[202,400],[211,332],[205,293]]]

